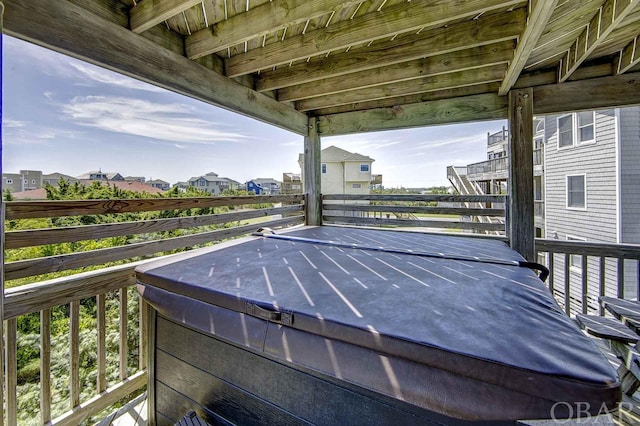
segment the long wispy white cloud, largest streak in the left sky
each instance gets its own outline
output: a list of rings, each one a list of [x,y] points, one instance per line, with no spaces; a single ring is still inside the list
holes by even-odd
[[[244,142],[249,136],[224,131],[222,125],[193,117],[184,104],[142,99],[77,96],[62,108],[78,125],[115,133],[180,143]]]

